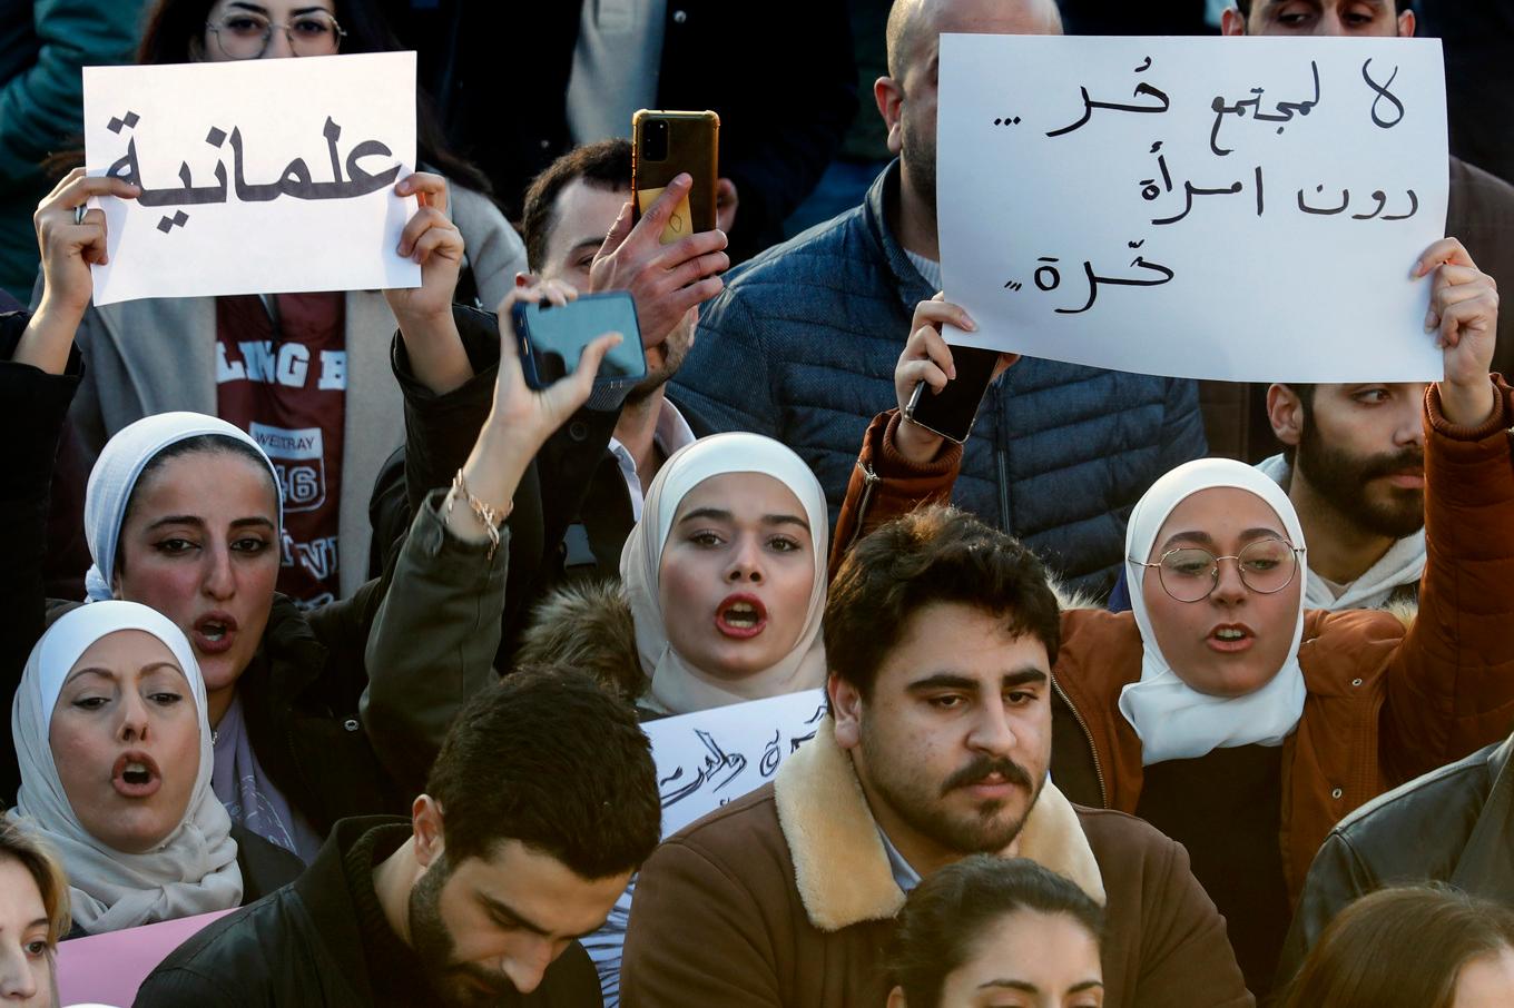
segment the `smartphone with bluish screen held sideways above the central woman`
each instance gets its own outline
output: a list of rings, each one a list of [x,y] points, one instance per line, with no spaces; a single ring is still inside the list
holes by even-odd
[[[510,316],[525,384],[533,389],[545,389],[572,374],[583,348],[606,333],[619,333],[624,339],[604,356],[593,387],[628,387],[646,377],[636,301],[627,291],[586,294],[568,304],[516,301]]]

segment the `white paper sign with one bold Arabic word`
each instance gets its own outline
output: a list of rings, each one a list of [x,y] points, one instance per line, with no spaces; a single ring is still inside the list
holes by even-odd
[[[415,53],[86,67],[85,162],[107,197],[95,304],[416,288]]]

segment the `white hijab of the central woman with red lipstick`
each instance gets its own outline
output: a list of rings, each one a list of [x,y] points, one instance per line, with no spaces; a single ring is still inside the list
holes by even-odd
[[[804,630],[793,649],[777,664],[740,680],[722,680],[684,661],[668,643],[665,614],[657,596],[663,546],[678,504],[710,477],[727,472],[762,472],[783,483],[799,499],[815,540],[815,584]],[[715,434],[674,453],[646,492],[642,521],[631,530],[621,552],[621,580],[636,621],[636,651],[651,677],[643,704],[671,714],[815,689],[825,683],[825,642],[821,614],[825,608],[830,524],[825,492],[799,456],[762,434]]]

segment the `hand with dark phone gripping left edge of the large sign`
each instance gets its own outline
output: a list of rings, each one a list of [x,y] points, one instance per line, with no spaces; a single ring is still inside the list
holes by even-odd
[[[922,465],[936,457],[943,437],[957,443],[967,440],[983,394],[1019,360],[1019,354],[948,347],[940,331],[946,322],[966,331],[978,328],[963,309],[946,303],[940,294],[921,301],[893,372],[899,412],[907,421],[899,425],[896,446]]]

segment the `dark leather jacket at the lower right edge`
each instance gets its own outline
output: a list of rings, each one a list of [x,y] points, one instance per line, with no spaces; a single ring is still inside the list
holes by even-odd
[[[1487,746],[1346,816],[1314,857],[1279,985],[1297,973],[1347,904],[1397,882],[1449,882],[1514,905],[1514,737]]]

